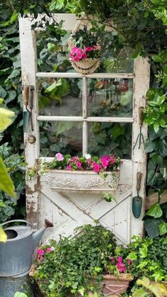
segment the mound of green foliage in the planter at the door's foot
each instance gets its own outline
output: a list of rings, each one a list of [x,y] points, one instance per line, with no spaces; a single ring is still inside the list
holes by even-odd
[[[76,237],[62,237],[57,244],[50,242],[54,250],[46,252],[42,261],[35,260],[34,278],[47,297],[69,293],[87,296],[88,291],[99,291],[109,258],[114,254],[115,236],[101,225],[84,225],[75,232]]]

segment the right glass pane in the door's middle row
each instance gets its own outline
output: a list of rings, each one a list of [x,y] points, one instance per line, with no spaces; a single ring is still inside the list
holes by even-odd
[[[88,116],[132,117],[133,79],[88,79]]]

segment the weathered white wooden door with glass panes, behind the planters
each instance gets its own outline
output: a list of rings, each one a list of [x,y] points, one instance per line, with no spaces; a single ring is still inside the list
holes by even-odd
[[[64,20],[64,30],[73,30],[76,26],[77,20],[72,14],[59,14],[56,18],[58,21]],[[59,239],[59,235],[71,234],[76,226],[85,223],[93,224],[94,220],[98,220],[101,225],[113,230],[120,242],[126,244],[132,235],[142,233],[143,228],[146,154],[144,145],[139,147],[139,142],[137,145],[135,142],[140,128],[139,107],[145,105],[145,95],[149,88],[149,63],[144,58],[138,57],[134,60],[133,67],[131,66],[127,71],[125,68],[118,67],[117,72],[114,73],[111,67],[107,67],[107,72],[82,76],[72,70],[63,72],[61,69],[60,72],[57,72],[57,66],[54,68],[54,72],[50,72],[50,62],[48,62],[48,72],[42,72],[40,70],[42,69],[41,60],[40,65],[37,63],[37,59],[39,60],[37,57],[37,35],[40,29],[32,30],[31,26],[31,20],[20,18],[22,84],[34,88],[33,127],[29,124],[28,131],[24,133],[28,168],[36,166],[39,159],[45,157],[45,154],[41,154],[44,142],[47,146],[45,151],[47,151],[49,159],[53,156],[54,151],[57,152],[57,145],[63,147],[64,150],[67,150],[67,147],[70,149],[72,147],[76,153],[81,153],[82,150],[85,154],[91,150],[91,153],[98,151],[98,155],[105,155],[107,148],[115,152],[113,146],[117,135],[120,135],[120,142],[117,140],[119,143],[115,147],[117,151],[120,150],[123,159],[120,169],[120,184],[115,197],[116,203],[115,201],[106,202],[100,194],[74,194],[68,193],[68,191],[65,194],[57,193],[54,190],[52,173],[43,176],[37,174],[33,179],[27,179],[27,219],[36,228],[43,225],[45,218],[54,223],[54,228],[47,230],[43,241],[51,237]],[[48,46],[52,52],[52,43]],[[45,55],[45,52],[45,49],[42,50],[40,55]],[[61,60],[61,55],[59,55],[59,60]],[[59,79],[61,84],[64,81],[66,84],[67,82],[70,84],[72,81],[74,86],[74,82],[76,82],[77,88],[80,87],[78,95],[67,91],[70,94],[63,95],[65,100],[63,99],[61,104],[52,102],[49,108],[43,108],[41,105],[39,108],[39,96],[44,94],[39,95],[39,85],[46,89],[47,82],[48,91],[48,84],[52,85],[53,82],[56,84],[60,82]],[[130,92],[132,93],[130,101],[126,99],[127,91],[129,91],[129,96]],[[105,108],[106,106],[108,108],[109,105],[112,108],[110,111],[107,109],[108,112],[106,112]],[[43,112],[41,112],[41,108],[43,108]],[[62,125],[67,128],[61,130]],[[54,133],[55,129],[58,130],[57,127],[59,127],[59,133]],[[106,137],[108,128],[111,129],[110,135],[108,135],[110,141],[106,145],[103,138]],[[42,131],[47,129],[49,136],[46,134],[44,136]],[[115,134],[115,131],[118,130],[120,132]],[[143,124],[144,138],[146,138],[146,133],[146,125]],[[127,135],[129,136],[127,137]],[[54,138],[54,140],[51,139],[51,145],[48,145],[46,139],[50,138],[47,137]],[[52,156],[50,156],[50,149]],[[139,219],[134,218],[132,214],[132,197],[137,195],[137,171],[142,172],[142,186],[139,194],[143,198],[143,206]]]

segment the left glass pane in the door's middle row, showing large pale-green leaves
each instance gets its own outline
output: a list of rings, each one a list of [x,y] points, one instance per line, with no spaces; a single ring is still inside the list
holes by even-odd
[[[38,79],[40,115],[82,116],[82,79]]]

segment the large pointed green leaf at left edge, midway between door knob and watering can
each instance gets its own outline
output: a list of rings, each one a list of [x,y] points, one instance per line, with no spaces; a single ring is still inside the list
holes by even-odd
[[[16,197],[16,193],[14,192],[13,181],[11,177],[8,175],[7,169],[4,166],[4,162],[0,157],[0,189],[5,191],[10,196]]]

